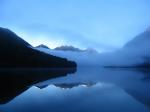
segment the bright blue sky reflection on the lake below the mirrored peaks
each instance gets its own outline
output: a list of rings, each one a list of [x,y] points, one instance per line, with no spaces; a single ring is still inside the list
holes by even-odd
[[[2,109],[8,112],[147,112],[144,105],[123,89],[104,83],[72,89],[33,86]]]

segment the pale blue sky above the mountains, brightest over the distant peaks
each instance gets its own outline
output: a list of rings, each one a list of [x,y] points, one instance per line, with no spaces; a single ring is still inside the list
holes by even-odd
[[[149,0],[0,0],[0,26],[32,45],[122,47],[150,26]]]

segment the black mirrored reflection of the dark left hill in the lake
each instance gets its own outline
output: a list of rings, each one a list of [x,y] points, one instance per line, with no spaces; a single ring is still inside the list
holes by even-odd
[[[74,69],[1,69],[0,103],[10,101],[35,83],[74,72]]]

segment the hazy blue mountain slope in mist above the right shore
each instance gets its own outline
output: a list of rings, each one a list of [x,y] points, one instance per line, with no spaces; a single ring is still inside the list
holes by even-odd
[[[123,48],[102,57],[104,66],[150,67],[150,30],[130,40]]]

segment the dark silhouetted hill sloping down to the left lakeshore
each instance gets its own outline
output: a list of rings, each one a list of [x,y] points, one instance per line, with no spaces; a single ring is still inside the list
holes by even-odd
[[[40,52],[12,31],[0,28],[0,67],[76,67],[76,63]]]

